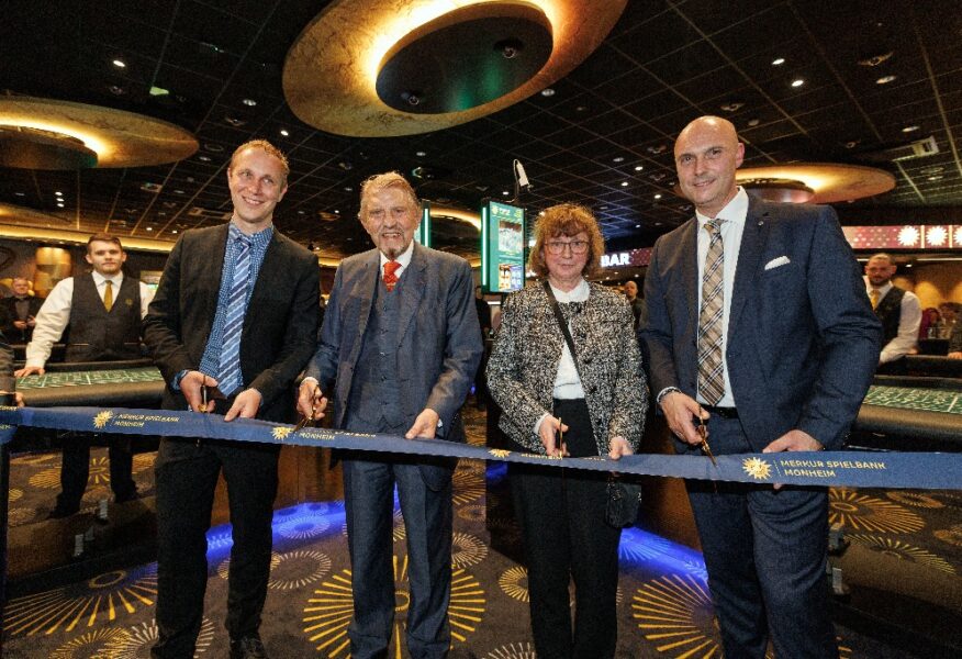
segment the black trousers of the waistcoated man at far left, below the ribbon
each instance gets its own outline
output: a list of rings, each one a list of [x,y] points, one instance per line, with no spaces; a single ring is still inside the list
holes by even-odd
[[[76,511],[87,491],[90,478],[90,442],[89,433],[76,433],[64,438],[64,459],[60,466],[60,493],[57,494],[57,507],[64,511]],[[134,456],[131,453],[131,438],[112,435],[108,438],[108,457],[110,458],[110,487],[118,501],[127,501],[137,493],[137,485],[132,476]]]

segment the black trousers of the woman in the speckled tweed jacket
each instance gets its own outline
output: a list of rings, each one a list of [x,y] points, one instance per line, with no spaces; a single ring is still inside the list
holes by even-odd
[[[572,457],[596,456],[583,400],[555,401]],[[539,659],[609,659],[617,645],[620,528],[604,522],[607,474],[508,465],[528,569],[532,632]],[[574,580],[574,626],[569,580]]]

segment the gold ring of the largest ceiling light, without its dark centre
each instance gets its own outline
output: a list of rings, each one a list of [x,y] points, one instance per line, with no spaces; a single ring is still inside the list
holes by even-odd
[[[503,110],[569,74],[601,45],[626,2],[338,0],[304,29],[288,52],[284,97],[301,121],[338,135],[393,137],[447,129]],[[425,26],[450,27],[452,21],[446,18],[455,13],[479,20],[532,11],[544,18],[552,47],[540,70],[512,91],[466,110],[438,113],[396,110],[378,96],[382,68],[412,38],[425,36]],[[478,80],[479,86],[483,82]]]

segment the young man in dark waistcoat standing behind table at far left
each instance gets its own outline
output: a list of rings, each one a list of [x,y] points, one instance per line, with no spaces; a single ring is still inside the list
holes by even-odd
[[[51,291],[36,316],[26,364],[16,377],[44,375],[54,344],[66,344],[65,361],[119,361],[139,359],[141,321],[153,292],[133,277],[124,277],[127,255],[115,236],[96,234],[87,241],[87,263],[93,271],[68,277]],[[137,496],[131,476],[130,437],[108,437],[110,487],[118,503]],[[90,437],[77,435],[64,445],[60,493],[51,517],[67,517],[80,510],[90,471]]]

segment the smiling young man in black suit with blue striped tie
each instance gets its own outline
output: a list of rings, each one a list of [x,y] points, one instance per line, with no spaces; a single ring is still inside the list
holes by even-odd
[[[273,226],[288,172],[287,159],[271,144],[242,145],[227,168],[231,222],[187,232],[170,253],[145,320],[145,340],[168,383],[165,409],[224,413],[228,422],[289,421],[291,387],[316,342],[318,268],[307,249]],[[204,406],[204,388],[226,400],[212,398]],[[152,656],[193,656],[208,581],[204,534],[222,469],[234,527],[231,657],[267,656],[258,628],[270,572],[279,448],[161,439],[155,463],[159,639]]]

